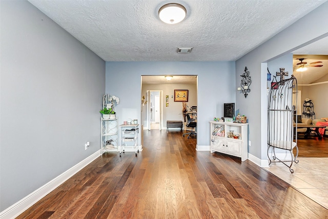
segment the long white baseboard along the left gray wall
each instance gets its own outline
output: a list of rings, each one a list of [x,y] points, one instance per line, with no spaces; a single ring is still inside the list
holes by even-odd
[[[9,208],[5,209],[4,211],[0,212],[0,218],[1,219],[9,219],[9,218],[15,218],[19,214],[23,213],[25,210],[27,210],[29,207],[34,205],[37,201],[39,201],[41,198],[49,194],[51,191],[53,191],[55,188],[57,188],[59,185],[63,184],[65,181],[67,181],[70,177],[72,177],[75,173],[83,169],[85,166],[90,164],[92,161],[94,161],[98,156],[101,155],[101,151],[98,150],[95,153],[91,154],[85,160],[79,162],[75,166],[71,167],[64,173],[61,173],[56,178],[48,182],[47,184],[43,185],[42,187],[36,189],[34,192],[30,193],[26,197],[22,198],[22,200],[16,202]]]

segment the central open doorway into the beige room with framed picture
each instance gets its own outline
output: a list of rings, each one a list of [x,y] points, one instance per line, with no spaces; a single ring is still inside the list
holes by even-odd
[[[147,101],[147,104],[142,105],[141,108],[141,125],[144,130],[167,130],[167,121],[184,122],[182,103],[174,98],[175,90],[188,90],[189,98],[187,105],[189,107],[197,106],[197,75],[172,75],[170,81],[165,76],[141,75],[140,96],[141,99],[145,96],[146,99],[144,101]],[[157,91],[159,91],[159,94]],[[158,95],[159,101],[156,104],[155,96]],[[155,106],[158,103],[160,107],[156,111],[157,107]],[[190,108],[188,110],[190,111]],[[170,128],[170,131],[174,129],[179,130],[179,128]],[[182,129],[184,129],[184,126]]]

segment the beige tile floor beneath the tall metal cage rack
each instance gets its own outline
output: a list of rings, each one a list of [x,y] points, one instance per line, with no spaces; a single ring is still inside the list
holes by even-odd
[[[282,163],[272,163],[264,169],[328,209],[328,157],[298,157],[297,160],[299,163],[292,166],[293,174]]]

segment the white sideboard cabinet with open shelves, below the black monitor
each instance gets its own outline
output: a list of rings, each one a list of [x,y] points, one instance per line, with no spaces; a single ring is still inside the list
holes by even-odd
[[[248,123],[219,123],[210,121],[211,153],[220,152],[248,159]]]

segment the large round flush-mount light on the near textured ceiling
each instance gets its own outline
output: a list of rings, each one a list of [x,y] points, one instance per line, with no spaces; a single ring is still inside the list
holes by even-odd
[[[158,10],[159,18],[167,24],[177,24],[185,19],[187,10],[180,4],[169,3]]]

